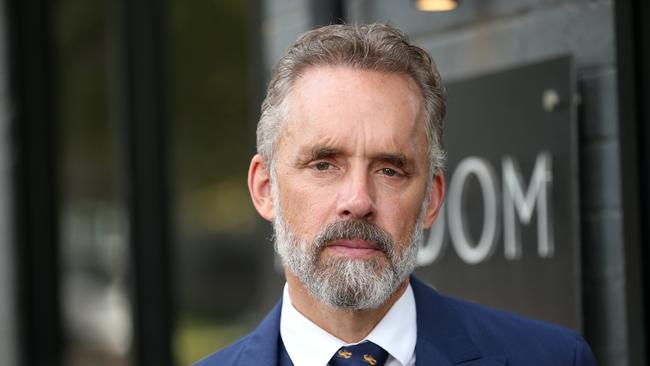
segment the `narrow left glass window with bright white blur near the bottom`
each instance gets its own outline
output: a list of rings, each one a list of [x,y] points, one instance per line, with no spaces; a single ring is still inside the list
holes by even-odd
[[[131,346],[109,5],[59,0],[53,6],[66,365],[126,365]]]

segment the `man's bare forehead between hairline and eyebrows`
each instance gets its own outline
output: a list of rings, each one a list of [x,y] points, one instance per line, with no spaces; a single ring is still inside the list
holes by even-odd
[[[286,108],[281,145],[363,143],[366,149],[426,150],[423,98],[407,75],[314,67],[296,80]]]

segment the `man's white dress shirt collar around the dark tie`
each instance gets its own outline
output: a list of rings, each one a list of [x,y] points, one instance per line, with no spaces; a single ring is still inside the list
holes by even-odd
[[[371,341],[388,352],[385,366],[414,366],[417,340],[415,317],[415,297],[409,284],[362,342]],[[288,284],[284,286],[280,336],[294,366],[326,366],[339,348],[350,345],[300,314],[292,305]]]

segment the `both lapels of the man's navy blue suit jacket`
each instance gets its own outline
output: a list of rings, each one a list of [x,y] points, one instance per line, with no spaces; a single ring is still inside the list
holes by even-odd
[[[461,314],[433,288],[410,278],[417,311],[418,365],[503,366],[504,358],[486,357],[463,326]],[[248,335],[237,366],[275,366],[280,342],[280,300],[260,325]]]

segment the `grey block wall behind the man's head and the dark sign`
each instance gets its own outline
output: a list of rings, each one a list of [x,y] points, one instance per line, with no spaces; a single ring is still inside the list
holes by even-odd
[[[265,0],[267,71],[310,28],[309,1]],[[462,1],[423,13],[411,1],[347,0],[348,22],[389,22],[436,60],[445,81],[573,56],[579,108],[584,333],[599,364],[628,365],[616,58],[611,0]]]

